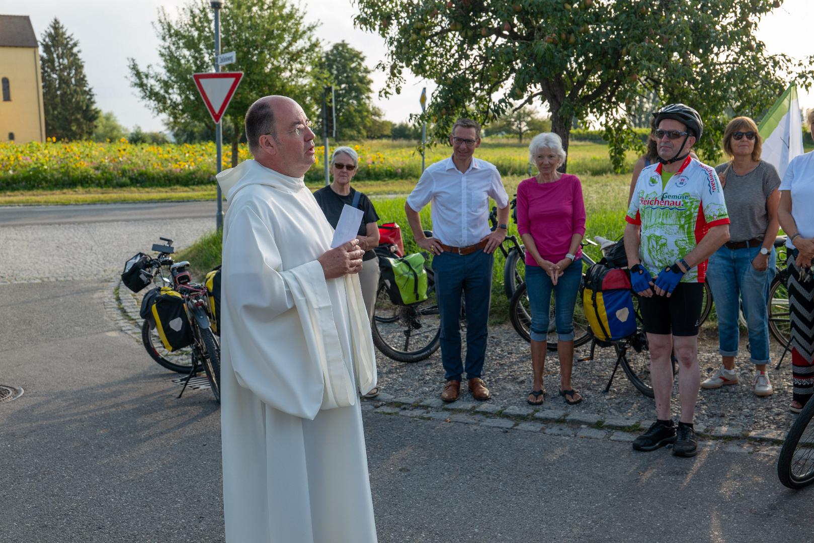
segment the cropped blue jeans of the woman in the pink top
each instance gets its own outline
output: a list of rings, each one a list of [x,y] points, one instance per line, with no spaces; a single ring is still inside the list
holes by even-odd
[[[574,305],[582,280],[582,259],[577,259],[565,269],[557,284],[540,266],[526,265],[526,291],[532,306],[532,341],[545,341],[549,333],[549,310],[551,291],[554,291],[554,324],[557,339],[574,339]]]

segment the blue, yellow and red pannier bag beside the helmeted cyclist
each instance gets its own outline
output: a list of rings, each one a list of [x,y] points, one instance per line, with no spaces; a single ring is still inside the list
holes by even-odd
[[[597,339],[617,341],[636,333],[627,269],[594,264],[585,273],[580,296],[591,333]]]

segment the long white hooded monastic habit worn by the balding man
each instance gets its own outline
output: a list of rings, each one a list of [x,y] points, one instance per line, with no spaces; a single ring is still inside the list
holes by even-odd
[[[219,173],[221,436],[228,543],[376,541],[357,394],[376,385],[357,275],[326,280],[333,229],[303,178]]]

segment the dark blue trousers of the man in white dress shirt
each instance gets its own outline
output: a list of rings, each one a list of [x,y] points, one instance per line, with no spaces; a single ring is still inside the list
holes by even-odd
[[[483,251],[468,255],[442,252],[432,259],[435,299],[441,318],[441,363],[444,379],[460,381],[461,294],[466,304],[466,377],[475,379],[484,370],[488,337],[489,301],[492,296],[493,256]]]

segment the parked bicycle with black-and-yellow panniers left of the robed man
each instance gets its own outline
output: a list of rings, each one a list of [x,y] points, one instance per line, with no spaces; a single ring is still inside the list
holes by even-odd
[[[221,348],[217,337],[212,333],[209,317],[212,314],[209,308],[208,291],[204,285],[190,282],[188,261],[174,262],[169,255],[173,254],[173,240],[160,238],[165,245],[155,243],[152,250],[159,253],[157,258],[147,261],[154,282],[160,281],[163,286],[172,286],[186,304],[186,314],[189,318],[193,341],[189,347],[169,352],[164,348],[160,335],[156,331],[155,320],[147,317],[142,322],[142,344],[150,357],[160,366],[177,373],[186,374],[184,388],[178,397],[186,390],[187,384],[193,375],[204,369],[212,394],[215,400],[221,401]],[[169,269],[169,276],[164,275],[164,268]]]

